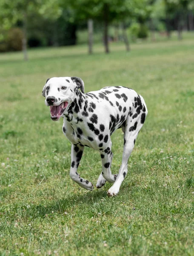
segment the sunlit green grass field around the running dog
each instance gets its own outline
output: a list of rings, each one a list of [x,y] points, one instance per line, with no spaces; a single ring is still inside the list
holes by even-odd
[[[62,47],[0,55],[1,255],[194,255],[194,38]],[[123,85],[140,93],[148,116],[115,198],[111,184],[80,189],[68,173],[71,143],[41,95],[48,77],[80,76],[86,92]],[[117,173],[121,129],[112,135]],[[79,172],[96,184],[97,151]]]

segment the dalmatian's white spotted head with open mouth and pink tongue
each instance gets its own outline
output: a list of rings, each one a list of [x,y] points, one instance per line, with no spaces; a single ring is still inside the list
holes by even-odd
[[[53,77],[46,80],[42,95],[50,106],[51,119],[58,121],[66,108],[73,102],[76,88],[84,93],[84,83],[79,77]]]

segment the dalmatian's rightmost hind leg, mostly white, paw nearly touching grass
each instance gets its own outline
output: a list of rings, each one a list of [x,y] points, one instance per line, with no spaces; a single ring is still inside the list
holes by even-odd
[[[146,114],[147,113],[141,111],[141,113],[136,118],[132,119],[130,116],[128,116],[128,118],[126,120],[127,125],[126,125],[125,133],[124,133],[124,148],[123,148],[122,164],[120,166],[117,180],[114,182],[113,186],[111,186],[111,188],[108,189],[107,194],[109,196],[114,196],[114,195],[118,194],[120,185],[123,182],[124,178],[126,177],[126,174],[128,171],[127,170],[128,158],[130,157],[131,152],[134,148],[135,140],[137,138],[137,135],[138,135],[140,129],[143,126]]]

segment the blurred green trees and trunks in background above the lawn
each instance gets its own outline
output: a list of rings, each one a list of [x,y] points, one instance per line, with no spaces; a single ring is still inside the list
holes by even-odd
[[[194,0],[1,0],[0,52],[27,47],[155,41],[194,30]],[[87,32],[88,31],[88,32]]]

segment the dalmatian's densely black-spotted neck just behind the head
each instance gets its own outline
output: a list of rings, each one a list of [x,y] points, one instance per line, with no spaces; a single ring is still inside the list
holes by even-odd
[[[63,113],[63,118],[68,122],[76,121],[81,116],[81,111],[85,111],[87,108],[87,100],[84,93],[81,93],[77,88],[74,92],[74,99],[68,108]]]

